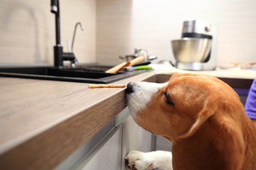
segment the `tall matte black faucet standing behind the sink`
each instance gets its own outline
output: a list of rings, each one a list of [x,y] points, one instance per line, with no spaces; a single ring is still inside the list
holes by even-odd
[[[60,3],[58,0],[50,1],[50,12],[55,13],[55,33],[56,45],[54,51],[54,66],[63,67],[63,61],[69,60],[71,64],[75,64],[77,59],[73,52],[63,52],[63,47],[60,45]]]

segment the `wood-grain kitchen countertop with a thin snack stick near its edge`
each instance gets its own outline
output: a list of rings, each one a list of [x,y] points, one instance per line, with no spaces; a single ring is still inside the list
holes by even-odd
[[[145,72],[115,84],[169,77]],[[0,77],[0,96],[0,169],[53,169],[126,107],[124,89],[63,81]]]

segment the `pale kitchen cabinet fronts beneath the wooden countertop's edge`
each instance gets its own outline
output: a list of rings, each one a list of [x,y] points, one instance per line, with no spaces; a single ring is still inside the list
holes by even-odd
[[[124,157],[131,150],[154,150],[154,135],[137,125],[128,108],[75,151],[55,170],[124,170]]]

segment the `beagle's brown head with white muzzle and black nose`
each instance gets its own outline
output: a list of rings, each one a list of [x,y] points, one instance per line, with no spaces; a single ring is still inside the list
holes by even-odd
[[[228,84],[205,74],[174,74],[164,84],[131,82],[127,101],[138,125],[170,141],[193,135],[218,107],[241,105]]]

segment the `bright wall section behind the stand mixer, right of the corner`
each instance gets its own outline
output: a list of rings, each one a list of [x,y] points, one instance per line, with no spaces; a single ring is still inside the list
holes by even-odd
[[[186,18],[218,24],[218,64],[256,61],[255,0],[97,0],[97,62],[118,64],[134,47],[174,60]]]

